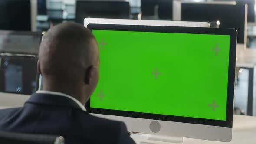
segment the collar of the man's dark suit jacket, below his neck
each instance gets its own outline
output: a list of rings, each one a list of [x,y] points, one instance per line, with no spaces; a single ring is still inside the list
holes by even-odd
[[[31,97],[26,101],[26,103],[72,107],[83,111],[75,101],[72,101],[70,98],[63,97],[60,95],[35,93],[31,95]]]

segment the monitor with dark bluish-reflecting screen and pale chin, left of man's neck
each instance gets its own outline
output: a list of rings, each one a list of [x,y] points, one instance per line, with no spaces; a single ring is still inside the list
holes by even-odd
[[[23,106],[38,88],[37,58],[0,54],[0,108]]]

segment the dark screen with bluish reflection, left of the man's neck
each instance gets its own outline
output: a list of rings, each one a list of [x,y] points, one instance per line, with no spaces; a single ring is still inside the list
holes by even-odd
[[[36,57],[0,56],[0,92],[31,95],[37,79]]]

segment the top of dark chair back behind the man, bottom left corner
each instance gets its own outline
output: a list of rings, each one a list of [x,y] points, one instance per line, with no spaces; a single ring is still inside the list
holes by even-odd
[[[21,134],[0,131],[1,144],[65,144],[62,136]]]

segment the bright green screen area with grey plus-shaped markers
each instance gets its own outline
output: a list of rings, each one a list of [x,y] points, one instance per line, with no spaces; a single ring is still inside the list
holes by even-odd
[[[229,35],[92,30],[91,108],[226,120]]]

